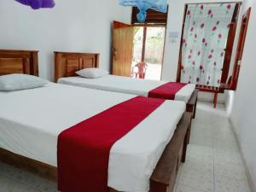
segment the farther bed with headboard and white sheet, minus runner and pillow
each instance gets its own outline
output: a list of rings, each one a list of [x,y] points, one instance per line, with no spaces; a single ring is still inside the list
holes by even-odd
[[[83,68],[98,67],[98,63],[98,54],[55,52],[55,82],[149,97],[150,90],[168,83],[166,81],[131,79],[115,75],[105,75],[98,79],[85,79],[75,73]],[[175,100],[187,103],[187,112],[192,112],[194,118],[197,95],[198,90],[195,90],[195,84],[186,84],[181,90],[177,91],[175,96]]]

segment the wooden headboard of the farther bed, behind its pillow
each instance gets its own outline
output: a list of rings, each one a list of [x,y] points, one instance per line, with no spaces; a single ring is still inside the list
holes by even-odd
[[[55,51],[55,82],[60,78],[77,76],[83,68],[99,67],[99,54]]]

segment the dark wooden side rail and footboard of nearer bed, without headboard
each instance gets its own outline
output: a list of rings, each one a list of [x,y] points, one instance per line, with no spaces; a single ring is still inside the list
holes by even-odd
[[[191,113],[184,113],[182,119],[179,121],[171,142],[166,146],[150,177],[149,192],[172,192],[179,166],[186,159],[191,116]],[[57,168],[54,166],[14,154],[3,148],[0,148],[0,160],[3,163],[36,173],[40,177],[57,182]],[[108,192],[119,191],[109,189]]]

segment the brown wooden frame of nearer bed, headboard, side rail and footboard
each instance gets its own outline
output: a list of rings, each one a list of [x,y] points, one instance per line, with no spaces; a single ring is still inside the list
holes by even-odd
[[[21,67],[18,72],[37,75],[38,73],[34,72],[38,72],[37,70],[35,71],[38,68],[38,61],[33,59],[33,56],[37,55],[37,53],[37,51],[0,51],[0,74],[16,73],[16,66],[18,65]],[[26,69],[27,64],[24,64],[24,62],[22,62],[22,65],[20,64],[21,60],[23,61],[24,55],[30,55],[29,57],[25,57],[30,61],[29,70]],[[177,129],[174,132],[171,142],[166,146],[150,177],[150,192],[172,192],[179,166],[186,159],[191,118],[192,113],[186,112],[177,124]],[[20,169],[34,172],[41,177],[57,182],[57,168],[54,166],[14,154],[4,148],[0,148],[0,160],[6,164],[17,166]],[[108,192],[118,191],[108,189]]]

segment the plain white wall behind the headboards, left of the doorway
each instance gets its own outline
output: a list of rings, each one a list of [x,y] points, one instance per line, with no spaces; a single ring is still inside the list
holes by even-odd
[[[38,49],[40,76],[54,79],[54,50],[100,53],[109,69],[111,22],[131,21],[118,0],[55,0],[54,9],[32,10],[0,0],[0,49]]]

